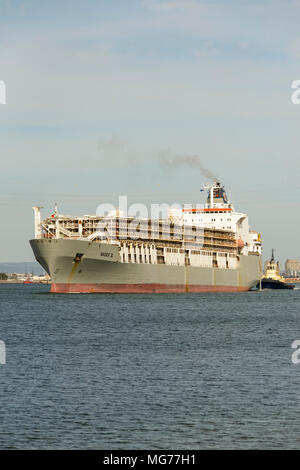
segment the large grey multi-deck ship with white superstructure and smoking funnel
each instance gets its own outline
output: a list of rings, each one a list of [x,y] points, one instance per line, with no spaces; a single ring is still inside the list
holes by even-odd
[[[242,292],[261,278],[261,238],[236,212],[220,182],[205,186],[195,207],[171,208],[164,218],[105,215],[41,220],[33,207],[36,260],[53,293]]]

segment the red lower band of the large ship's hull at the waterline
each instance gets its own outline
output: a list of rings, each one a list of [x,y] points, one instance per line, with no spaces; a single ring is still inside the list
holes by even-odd
[[[246,292],[248,290],[248,287],[238,286],[185,286],[184,284],[51,284],[51,292],[59,294],[162,294],[185,292]]]

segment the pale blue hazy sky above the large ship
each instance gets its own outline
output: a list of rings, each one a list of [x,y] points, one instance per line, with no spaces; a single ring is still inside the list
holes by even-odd
[[[32,259],[35,204],[199,201],[162,150],[220,176],[265,255],[300,258],[299,19],[298,0],[0,0],[0,260]]]

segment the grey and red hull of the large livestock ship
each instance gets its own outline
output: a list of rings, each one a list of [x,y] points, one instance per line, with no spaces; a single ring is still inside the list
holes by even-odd
[[[243,292],[260,278],[260,256],[239,256],[236,269],[121,263],[117,245],[88,240],[34,239],[37,261],[53,293]]]

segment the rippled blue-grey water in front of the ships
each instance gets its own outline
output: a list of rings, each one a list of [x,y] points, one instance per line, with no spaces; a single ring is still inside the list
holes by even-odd
[[[300,290],[0,285],[1,449],[300,448]]]

